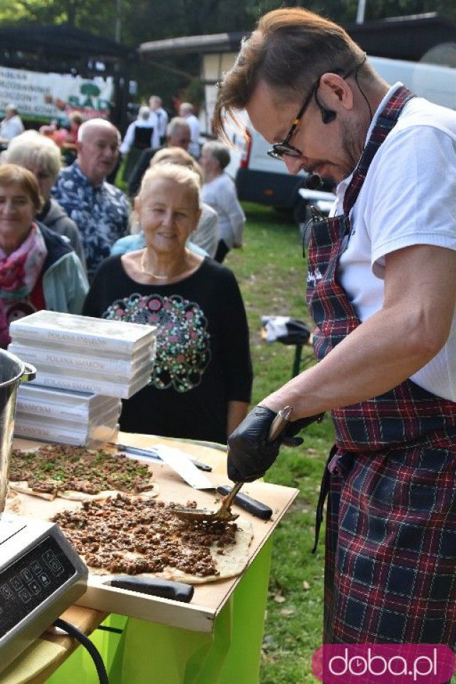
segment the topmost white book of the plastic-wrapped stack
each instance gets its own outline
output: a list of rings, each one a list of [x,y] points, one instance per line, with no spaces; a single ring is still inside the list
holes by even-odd
[[[98,353],[113,351],[123,354],[132,354],[145,345],[152,346],[155,330],[154,326],[140,323],[46,310],[19,318],[9,327],[13,341],[46,341],[57,346],[68,345],[73,349],[76,346],[80,353],[98,350]]]

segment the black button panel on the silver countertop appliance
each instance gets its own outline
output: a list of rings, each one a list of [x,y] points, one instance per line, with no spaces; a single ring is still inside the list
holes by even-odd
[[[54,537],[45,537],[0,572],[0,640],[76,575]]]

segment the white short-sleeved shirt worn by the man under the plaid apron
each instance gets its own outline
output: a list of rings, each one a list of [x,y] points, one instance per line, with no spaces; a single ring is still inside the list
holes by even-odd
[[[367,137],[400,85],[385,95]],[[332,215],[342,213],[350,180],[338,185]],[[361,321],[383,304],[385,254],[415,244],[456,250],[456,113],[423,98],[405,105],[351,211],[351,235],[338,277]],[[411,380],[456,401],[456,311],[447,343]]]

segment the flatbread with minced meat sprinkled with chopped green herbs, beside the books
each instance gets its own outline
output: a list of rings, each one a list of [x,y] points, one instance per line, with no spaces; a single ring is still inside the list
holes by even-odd
[[[43,445],[36,450],[11,452],[9,487],[53,501],[105,499],[117,492],[155,497],[158,486],[145,462],[103,449]]]

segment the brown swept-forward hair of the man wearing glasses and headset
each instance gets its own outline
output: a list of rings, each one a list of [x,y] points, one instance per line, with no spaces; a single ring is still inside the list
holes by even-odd
[[[260,82],[277,100],[304,100],[306,90],[326,71],[356,68],[364,52],[341,26],[301,7],[268,12],[244,38],[234,66],[224,75],[214,109],[214,130],[224,133],[227,112],[235,119]]]

